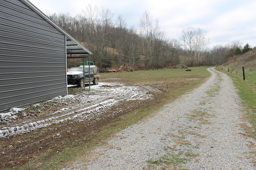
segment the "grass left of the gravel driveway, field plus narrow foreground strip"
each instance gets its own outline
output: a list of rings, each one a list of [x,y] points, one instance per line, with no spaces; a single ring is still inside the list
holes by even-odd
[[[106,140],[107,137],[117,133],[118,131],[125,129],[126,127],[137,123],[144,117],[155,113],[164,104],[171,102],[178,98],[178,96],[191,91],[196,86],[202,84],[210,73],[206,70],[208,67],[196,67],[192,68],[191,72],[186,72],[184,69],[162,69],[162,70],[147,70],[147,71],[134,71],[134,72],[117,72],[117,73],[103,73],[100,79],[104,82],[122,82],[127,85],[146,85],[159,88],[164,92],[160,98],[150,102],[147,106],[138,108],[131,111],[128,114],[121,115],[115,118],[112,123],[102,127],[96,136],[94,136],[94,143],[86,144],[86,149],[74,149],[69,148],[68,155],[72,155],[72,152],[79,150],[76,157],[80,157],[89,150],[93,149],[97,145],[100,145],[102,141]],[[157,101],[157,102],[156,102]],[[175,156],[174,156],[175,157]],[[66,159],[66,158],[64,158]],[[51,169],[50,167],[56,160],[62,160],[58,157],[53,158],[52,163],[45,168]],[[68,158],[70,160],[70,158]],[[182,160],[182,159],[181,159]],[[61,162],[59,163],[61,165]]]

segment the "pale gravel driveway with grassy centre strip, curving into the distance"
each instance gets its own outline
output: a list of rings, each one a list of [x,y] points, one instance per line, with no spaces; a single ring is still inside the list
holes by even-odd
[[[208,71],[202,86],[63,170],[255,170],[256,141],[244,135],[249,124],[232,80]]]

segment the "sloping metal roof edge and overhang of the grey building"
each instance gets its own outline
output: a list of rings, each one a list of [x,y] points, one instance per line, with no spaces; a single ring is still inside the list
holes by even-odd
[[[54,21],[52,21],[48,16],[46,16],[43,12],[41,12],[36,6],[34,6],[31,2],[28,0],[21,0],[24,4],[26,4],[28,7],[30,7],[34,12],[36,12],[38,15],[40,15],[42,18],[44,18],[46,21],[48,21],[51,25],[53,25],[56,29],[58,29],[61,33],[66,35],[66,55],[70,55],[71,58],[72,55],[92,55],[92,52],[86,49],[80,42],[78,42],[74,37],[72,37],[69,33],[67,33],[62,27],[57,25]],[[75,58],[75,57],[72,57]],[[78,57],[76,57],[78,58]],[[79,57],[84,58],[84,57]]]

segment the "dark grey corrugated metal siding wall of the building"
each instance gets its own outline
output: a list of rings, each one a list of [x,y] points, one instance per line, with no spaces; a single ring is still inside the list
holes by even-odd
[[[65,35],[20,0],[0,1],[0,111],[66,95]]]

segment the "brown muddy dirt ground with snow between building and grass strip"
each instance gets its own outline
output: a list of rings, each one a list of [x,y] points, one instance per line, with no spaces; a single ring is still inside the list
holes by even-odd
[[[161,95],[160,92],[152,94],[152,89],[145,90],[144,94],[138,95],[138,93],[143,91],[141,89],[142,87],[137,87],[135,89],[132,89],[131,87],[122,87],[126,91],[123,89],[118,90],[121,86],[106,86],[103,84],[101,87],[105,90],[108,88],[109,91],[103,95],[103,91],[97,90],[93,90],[89,94],[84,94],[81,88],[70,87],[68,89],[69,93],[80,94],[78,95],[80,96],[79,99],[75,98],[72,100],[65,100],[64,102],[60,102],[60,100],[44,101],[41,102],[41,107],[39,108],[35,107],[38,105],[24,106],[24,108],[26,108],[26,114],[24,114],[24,111],[20,112],[18,113],[20,114],[19,119],[8,122],[0,127],[14,127],[17,124],[21,127],[24,124],[27,125],[28,123],[36,121],[39,122],[39,120],[44,120],[49,117],[56,117],[56,114],[59,116],[56,119],[61,119],[58,123],[56,123],[56,121],[52,121],[50,125],[43,124],[38,129],[27,131],[22,135],[10,135],[8,137],[1,138],[0,169],[22,166],[31,160],[38,161],[42,156],[45,156],[44,161],[47,161],[47,159],[51,158],[52,155],[61,152],[63,149],[70,147],[71,145],[72,147],[75,147],[74,145],[79,146],[81,143],[88,143],[93,139],[93,135],[97,134],[97,131],[100,131],[100,129],[106,124],[114,121],[114,119],[119,115],[126,114],[139,107],[144,107],[148,102],[152,101],[152,99]],[[129,94],[131,91],[134,91],[134,94]],[[130,96],[128,96],[128,94]],[[140,96],[138,99],[143,99],[136,100],[136,98],[134,98],[136,94],[137,96]],[[88,95],[97,97],[90,100],[88,99]],[[104,103],[107,100],[113,99],[115,99],[115,101],[112,103]],[[94,108],[91,107],[92,105],[94,105]],[[61,110],[64,107],[72,108],[73,118],[70,115],[65,115],[65,113],[70,112],[71,109],[58,113],[58,110]],[[86,113],[84,110],[79,111],[79,109],[83,107],[88,108]],[[91,110],[93,109],[96,110],[94,111],[94,114],[91,113]],[[86,118],[84,118],[84,115],[86,115]],[[82,118],[74,118],[79,116]]]

